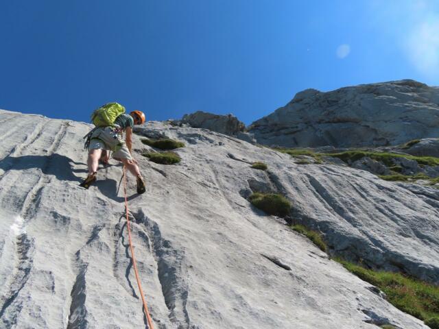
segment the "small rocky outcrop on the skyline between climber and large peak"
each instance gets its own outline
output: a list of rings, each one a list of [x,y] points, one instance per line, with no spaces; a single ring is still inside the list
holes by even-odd
[[[187,123],[194,128],[209,129],[226,135],[237,135],[239,132],[244,132],[246,127],[244,123],[232,114],[218,115],[202,111],[185,114],[181,122]]]

